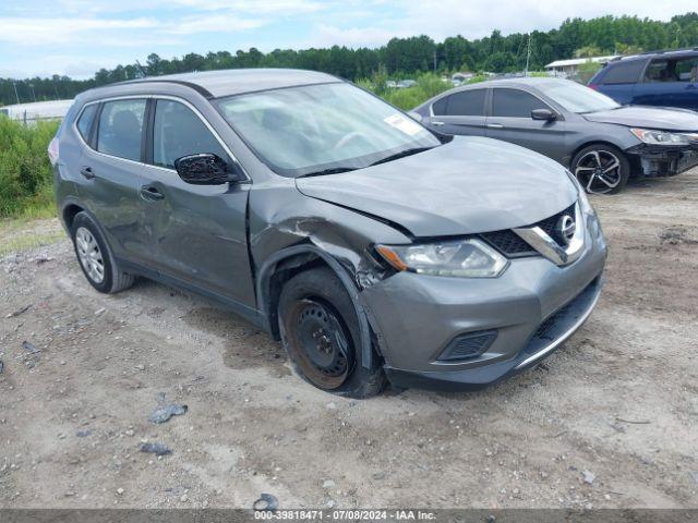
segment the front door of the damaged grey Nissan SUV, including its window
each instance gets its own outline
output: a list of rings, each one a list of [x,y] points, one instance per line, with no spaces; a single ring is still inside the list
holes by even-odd
[[[147,166],[140,190],[148,266],[218,296],[254,306],[248,256],[248,183],[192,185],[174,171],[174,160],[201,153],[232,162],[229,149],[194,106],[153,100]]]

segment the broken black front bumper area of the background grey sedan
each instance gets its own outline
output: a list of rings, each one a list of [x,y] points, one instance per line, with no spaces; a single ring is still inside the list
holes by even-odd
[[[640,144],[626,153],[643,177],[674,177],[698,166],[698,143],[681,146]]]

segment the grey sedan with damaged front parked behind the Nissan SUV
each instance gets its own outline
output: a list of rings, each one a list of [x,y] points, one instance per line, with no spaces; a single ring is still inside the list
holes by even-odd
[[[621,106],[568,80],[522,77],[448,90],[414,109],[438,132],[518,144],[568,167],[589,193],[698,165],[698,113]]]

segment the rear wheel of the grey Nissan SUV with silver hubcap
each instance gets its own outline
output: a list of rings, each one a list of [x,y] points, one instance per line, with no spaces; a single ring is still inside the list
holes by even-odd
[[[119,269],[99,228],[86,212],[75,215],[71,236],[80,268],[97,291],[111,294],[133,284],[134,277]]]

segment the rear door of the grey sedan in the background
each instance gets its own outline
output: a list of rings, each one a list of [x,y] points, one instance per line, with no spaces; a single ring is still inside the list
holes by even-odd
[[[432,104],[430,124],[440,133],[484,136],[488,89],[466,89]]]

